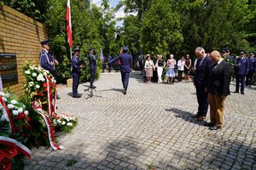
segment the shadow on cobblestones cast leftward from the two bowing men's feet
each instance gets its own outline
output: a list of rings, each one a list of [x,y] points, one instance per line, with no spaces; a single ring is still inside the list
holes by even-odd
[[[186,122],[193,122],[195,124],[204,126],[204,121],[197,121],[196,117],[192,117],[194,114],[190,113],[189,111],[182,111],[176,108],[166,109],[166,111],[175,113],[176,117],[182,118]]]

